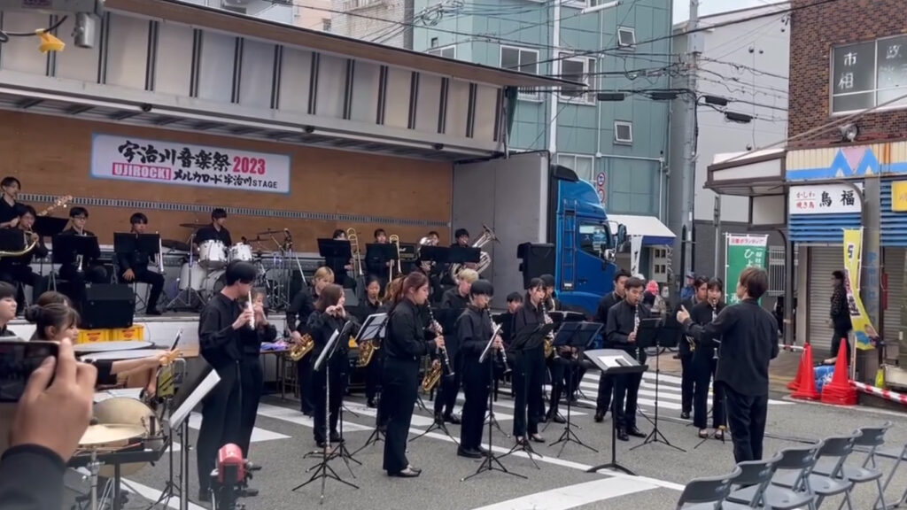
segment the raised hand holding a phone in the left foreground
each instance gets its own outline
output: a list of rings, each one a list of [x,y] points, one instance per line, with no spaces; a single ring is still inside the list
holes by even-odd
[[[44,446],[69,460],[92,419],[97,378],[93,365],[76,361],[73,343],[63,338],[58,357],[44,359],[28,378],[16,407],[10,446]]]

